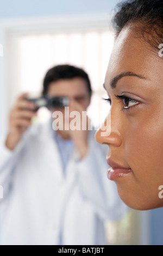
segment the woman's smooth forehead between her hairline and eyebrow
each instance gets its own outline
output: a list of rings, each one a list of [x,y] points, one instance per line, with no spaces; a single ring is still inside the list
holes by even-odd
[[[131,27],[124,28],[115,40],[106,80],[111,80],[123,72],[133,72],[155,80],[158,77],[158,70],[163,69],[163,59],[159,58],[159,50],[158,46],[157,57],[151,46],[137,36]],[[163,82],[163,73],[161,76]]]

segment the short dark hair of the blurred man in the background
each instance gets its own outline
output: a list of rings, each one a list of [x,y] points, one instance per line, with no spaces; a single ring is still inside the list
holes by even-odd
[[[69,80],[77,77],[82,78],[86,81],[88,92],[91,95],[92,89],[89,76],[83,69],[71,65],[58,65],[48,70],[43,80],[43,95],[47,94],[50,83],[57,82],[62,79]]]

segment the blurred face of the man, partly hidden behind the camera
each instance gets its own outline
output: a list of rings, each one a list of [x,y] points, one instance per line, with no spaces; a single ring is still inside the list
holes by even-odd
[[[68,97],[70,112],[77,111],[76,106],[80,105],[83,111],[86,111],[90,105],[91,96],[87,88],[86,81],[82,78],[73,78],[69,80],[59,80],[49,84],[47,96],[49,97]],[[51,109],[52,112],[62,112],[65,120],[65,108]]]

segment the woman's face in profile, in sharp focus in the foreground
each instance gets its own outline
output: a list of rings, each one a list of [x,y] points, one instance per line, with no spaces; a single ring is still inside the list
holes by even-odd
[[[160,42],[161,44],[162,42]],[[163,57],[123,28],[115,41],[104,87],[111,101],[111,131],[96,133],[108,144],[108,177],[128,206],[148,210],[163,206]],[[108,100],[109,104],[109,100]]]

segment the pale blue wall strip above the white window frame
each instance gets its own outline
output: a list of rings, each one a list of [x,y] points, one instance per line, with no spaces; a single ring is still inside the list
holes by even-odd
[[[109,12],[115,3],[117,0],[0,0],[0,18]]]

